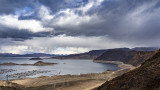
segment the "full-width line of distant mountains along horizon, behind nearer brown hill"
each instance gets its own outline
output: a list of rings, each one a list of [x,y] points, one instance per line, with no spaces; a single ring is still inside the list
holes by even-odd
[[[116,50],[136,50],[136,51],[155,51],[155,47],[136,47],[136,48],[115,48]],[[33,53],[33,54],[12,54],[12,53],[0,53],[0,57],[52,57],[54,59],[96,59],[106,51],[115,49],[102,49],[102,50],[91,50],[89,52],[71,55],[56,55],[56,54],[45,54],[45,53]]]

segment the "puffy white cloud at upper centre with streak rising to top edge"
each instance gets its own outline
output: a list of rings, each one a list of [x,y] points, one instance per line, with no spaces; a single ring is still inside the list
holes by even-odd
[[[89,0],[88,4],[81,6],[79,8],[71,8],[60,10],[54,16],[52,25],[60,27],[70,27],[78,26],[84,23],[90,23],[93,21],[98,21],[100,18],[96,15],[87,15],[87,12],[91,8],[98,7],[104,0]],[[79,15],[76,12],[82,12],[82,15]],[[58,16],[58,17],[57,17]]]

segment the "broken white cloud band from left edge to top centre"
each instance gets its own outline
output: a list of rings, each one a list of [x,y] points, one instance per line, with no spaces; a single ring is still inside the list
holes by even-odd
[[[31,32],[47,32],[53,31],[55,26],[58,27],[71,27],[80,26],[81,24],[90,23],[93,21],[99,21],[99,17],[96,14],[87,15],[86,13],[93,7],[101,5],[103,0],[89,0],[85,6],[79,8],[68,8],[60,10],[59,12],[52,14],[52,11],[44,5],[36,6],[35,9],[27,12],[25,9],[17,11],[16,15],[1,15],[0,24],[6,27],[10,27],[18,30],[29,30]],[[82,12],[79,15],[76,12]],[[19,14],[23,16],[29,16],[37,12],[37,17],[41,20],[35,19],[23,19],[19,20]],[[50,26],[50,27],[45,27]]]

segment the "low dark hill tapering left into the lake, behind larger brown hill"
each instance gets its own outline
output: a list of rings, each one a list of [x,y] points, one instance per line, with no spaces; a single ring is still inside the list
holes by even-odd
[[[58,56],[58,57],[52,57],[54,59],[95,59],[101,54],[103,54],[106,50],[92,50],[86,53],[80,53],[80,54],[71,54],[67,56]]]

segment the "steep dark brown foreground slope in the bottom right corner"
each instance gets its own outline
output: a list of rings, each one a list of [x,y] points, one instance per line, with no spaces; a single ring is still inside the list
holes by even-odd
[[[142,65],[128,73],[105,82],[98,90],[159,90],[160,50]]]

